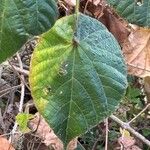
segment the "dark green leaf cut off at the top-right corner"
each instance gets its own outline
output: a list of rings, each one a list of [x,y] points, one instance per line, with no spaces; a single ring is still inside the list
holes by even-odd
[[[150,27],[150,0],[107,0],[128,22]]]

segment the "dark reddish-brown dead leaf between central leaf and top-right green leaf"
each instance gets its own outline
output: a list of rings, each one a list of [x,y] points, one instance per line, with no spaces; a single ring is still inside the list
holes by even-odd
[[[128,23],[121,19],[107,4],[106,0],[83,1],[86,13],[92,14],[94,18],[102,22],[122,45],[128,38],[130,31]],[[85,11],[85,10],[84,10]]]

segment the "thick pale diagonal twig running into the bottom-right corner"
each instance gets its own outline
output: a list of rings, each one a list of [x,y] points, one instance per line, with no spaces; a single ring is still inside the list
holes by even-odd
[[[128,130],[135,137],[137,137],[138,139],[140,139],[143,143],[145,143],[146,145],[150,146],[150,141],[147,140],[143,135],[141,135],[140,133],[138,133],[137,131],[135,131],[133,128],[131,128],[130,125],[129,125],[129,123],[125,123],[125,122],[121,121],[119,118],[117,118],[114,115],[111,115],[110,118],[113,121],[115,121],[116,123],[118,123],[122,128]]]

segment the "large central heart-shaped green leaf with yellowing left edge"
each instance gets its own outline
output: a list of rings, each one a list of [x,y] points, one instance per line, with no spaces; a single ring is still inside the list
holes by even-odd
[[[64,17],[36,47],[30,85],[36,106],[61,140],[109,116],[126,89],[126,68],[114,37],[97,20]]]

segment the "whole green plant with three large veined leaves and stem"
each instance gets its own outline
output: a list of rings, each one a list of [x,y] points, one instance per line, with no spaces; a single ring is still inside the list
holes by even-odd
[[[127,88],[121,48],[102,23],[78,11],[79,0],[75,14],[57,21],[54,0],[1,3],[0,62],[40,36],[30,66],[31,92],[39,112],[67,146],[118,107]],[[108,3],[127,21],[150,26],[150,0]]]

